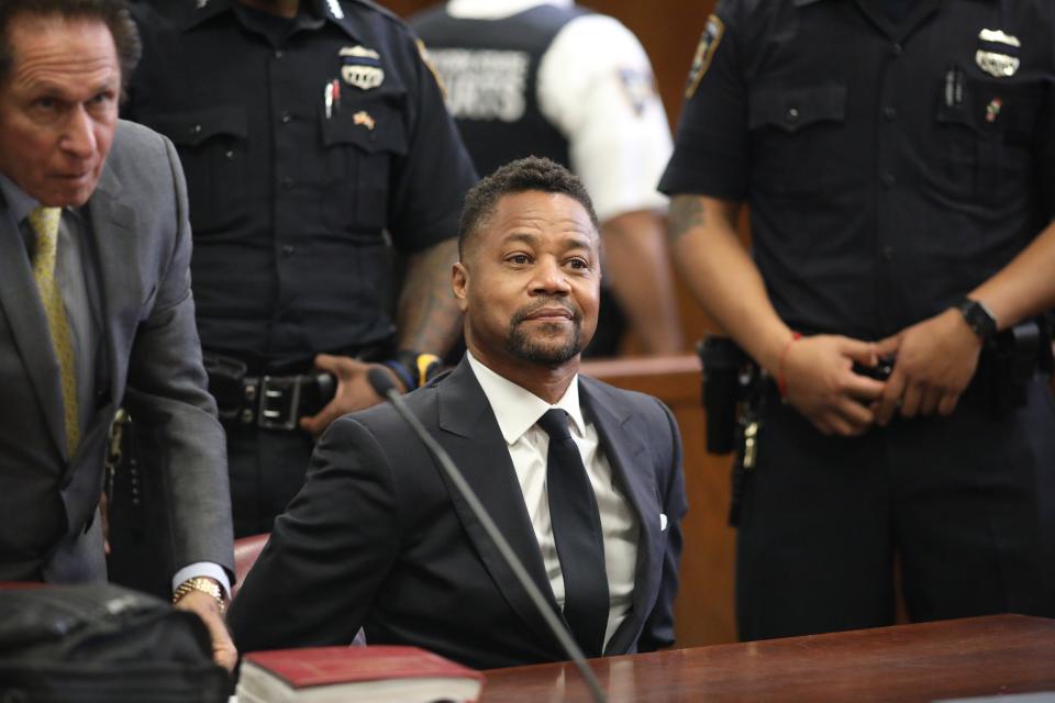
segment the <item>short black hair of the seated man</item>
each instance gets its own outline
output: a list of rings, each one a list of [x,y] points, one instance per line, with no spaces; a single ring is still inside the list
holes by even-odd
[[[482,178],[466,193],[465,208],[462,210],[462,221],[458,224],[458,257],[464,256],[465,243],[469,237],[495,214],[498,201],[503,196],[528,191],[560,193],[577,200],[590,215],[593,230],[598,230],[593,201],[586,192],[582,181],[556,161],[529,156],[506,164],[490,176]]]

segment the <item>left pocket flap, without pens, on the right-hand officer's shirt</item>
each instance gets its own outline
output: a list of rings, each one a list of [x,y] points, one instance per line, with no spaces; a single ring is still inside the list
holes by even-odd
[[[752,130],[775,126],[795,133],[818,122],[842,122],[846,118],[846,86],[823,83],[800,88],[759,88],[748,103]]]

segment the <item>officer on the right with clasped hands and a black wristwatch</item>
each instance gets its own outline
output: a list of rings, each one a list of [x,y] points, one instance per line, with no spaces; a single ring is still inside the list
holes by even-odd
[[[724,0],[707,22],[660,190],[695,293],[773,379],[745,639],[891,623],[896,560],[914,620],[1055,615],[1030,324],[1055,303],[1053,12]]]

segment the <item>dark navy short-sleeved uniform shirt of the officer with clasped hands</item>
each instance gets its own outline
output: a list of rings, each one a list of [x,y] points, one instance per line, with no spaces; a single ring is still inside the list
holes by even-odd
[[[780,317],[876,339],[1055,216],[1055,4],[724,0],[660,190],[751,208]]]

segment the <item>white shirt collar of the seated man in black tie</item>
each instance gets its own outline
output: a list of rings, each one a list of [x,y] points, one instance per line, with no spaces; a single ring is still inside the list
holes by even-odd
[[[579,376],[575,375],[568,384],[568,390],[555,404],[551,405],[531,391],[517,386],[509,379],[499,376],[466,352],[469,358],[469,368],[479,381],[484,394],[491,404],[491,411],[498,420],[506,444],[513,444],[528,432],[542,414],[551,408],[559,408],[571,419],[573,432],[580,437],[586,432],[582,420],[582,410],[579,406]]]

